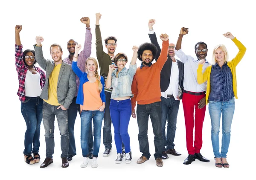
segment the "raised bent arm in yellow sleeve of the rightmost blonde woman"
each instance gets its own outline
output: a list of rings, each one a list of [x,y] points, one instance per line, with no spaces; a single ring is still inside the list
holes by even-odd
[[[232,59],[232,61],[230,61],[230,63],[232,63],[235,67],[236,65],[241,61],[241,59],[244,57],[244,54],[246,52],[246,47],[241,44],[240,41],[238,41],[232,34],[231,32],[227,32],[225,34],[223,34],[226,38],[230,38],[238,47],[239,52],[237,53],[236,57]]]

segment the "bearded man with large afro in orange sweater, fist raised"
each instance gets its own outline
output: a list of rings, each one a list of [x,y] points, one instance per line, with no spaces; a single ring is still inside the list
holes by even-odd
[[[131,99],[132,117],[136,118],[135,106],[137,105],[137,122],[139,126],[138,140],[142,156],[137,160],[138,164],[144,163],[150,158],[148,145],[148,115],[150,116],[155,146],[155,160],[157,166],[163,166],[163,136],[161,122],[161,90],[160,90],[160,72],[167,60],[169,39],[168,35],[160,35],[163,41],[162,50],[157,62],[152,64],[157,53],[154,44],[144,43],[138,50],[138,58],[142,61],[141,66],[137,68],[136,74],[131,85],[134,97]]]

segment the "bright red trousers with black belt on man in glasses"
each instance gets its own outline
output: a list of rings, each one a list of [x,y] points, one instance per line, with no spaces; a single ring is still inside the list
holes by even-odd
[[[200,153],[202,148],[203,139],[203,122],[206,106],[204,108],[198,108],[198,102],[205,97],[205,94],[202,95],[192,95],[188,93],[183,93],[182,104],[185,117],[186,125],[186,147],[189,154]],[[195,109],[195,120],[194,120],[194,109]],[[194,131],[194,122],[195,122],[195,141],[193,138]],[[193,145],[194,144],[194,145]]]

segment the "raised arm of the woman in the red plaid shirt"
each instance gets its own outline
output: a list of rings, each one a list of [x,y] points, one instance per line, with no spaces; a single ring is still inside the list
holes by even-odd
[[[16,70],[19,71],[20,67],[24,64],[23,61],[23,52],[22,52],[22,45],[20,42],[20,31],[22,29],[21,25],[15,26],[15,65]]]

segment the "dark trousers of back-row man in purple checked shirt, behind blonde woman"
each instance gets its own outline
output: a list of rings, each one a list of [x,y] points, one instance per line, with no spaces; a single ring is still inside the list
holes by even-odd
[[[68,132],[70,137],[70,144],[69,144],[69,150],[68,155],[73,157],[76,155],[76,143],[75,143],[75,135],[74,135],[74,126],[77,116],[77,111],[80,114],[80,105],[76,104],[76,97],[74,97],[72,103],[70,104],[68,108]],[[89,153],[93,153],[93,131],[92,127],[89,129]]]

